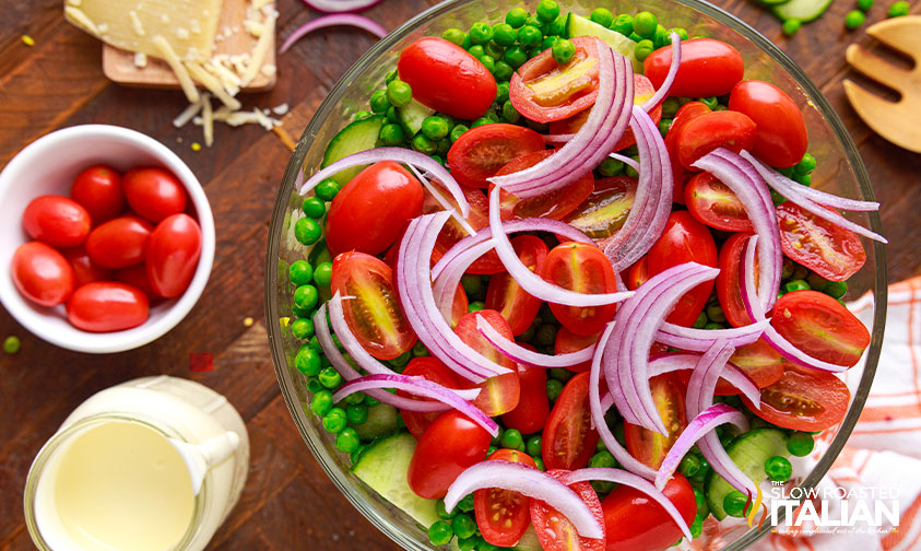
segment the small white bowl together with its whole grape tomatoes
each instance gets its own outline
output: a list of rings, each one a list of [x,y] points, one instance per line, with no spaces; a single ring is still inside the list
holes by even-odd
[[[57,130],[0,173],[0,301],[58,347],[113,353],[162,337],[201,296],[214,246],[194,174],[134,130]]]

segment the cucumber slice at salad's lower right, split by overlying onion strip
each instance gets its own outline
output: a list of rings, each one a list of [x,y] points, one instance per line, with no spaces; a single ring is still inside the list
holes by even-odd
[[[793,0],[795,1],[795,0]],[[735,438],[727,448],[729,457],[742,469],[756,484],[761,483],[767,474],[765,473],[765,461],[774,456],[787,457],[787,434],[778,429],[755,429]],[[722,477],[710,471],[707,478],[705,493],[710,513],[722,520],[725,518],[723,500],[730,492],[735,490]]]

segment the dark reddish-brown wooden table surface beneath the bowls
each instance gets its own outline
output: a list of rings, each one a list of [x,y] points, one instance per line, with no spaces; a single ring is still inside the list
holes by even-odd
[[[310,17],[298,0],[281,0],[279,37]],[[434,0],[388,0],[367,14],[395,28]],[[822,87],[845,120],[883,203],[890,239],[890,282],[921,273],[921,155],[875,136],[850,108],[841,87],[854,78],[845,65],[851,42],[870,45],[843,27],[852,0],[833,4],[792,38],[751,0],[717,0],[780,45]],[[867,17],[885,17],[878,0]],[[912,12],[921,0],[912,0]],[[22,35],[35,45],[26,46]],[[295,139],[327,91],[374,44],[363,32],[335,28],[302,40],[279,59],[279,83],[245,106],[293,107],[284,129]],[[271,208],[291,151],[280,137],[248,126],[217,126],[215,145],[192,151],[200,129],[176,130],[186,102],[178,92],[115,85],[101,69],[101,44],[66,23],[60,0],[5,2],[0,19],[0,167],[23,146],[55,129],[106,122],[163,141],[203,183],[214,210],[217,253],[208,288],[170,333],[141,349],[108,356],[58,349],[32,337],[0,308],[0,339],[15,335],[22,350],[0,355],[0,550],[33,549],[22,514],[25,476],[42,444],[68,413],[94,392],[134,377],[167,373],[226,395],[249,427],[251,465],[243,499],[211,549],[395,549],[340,495],[295,430],[279,392],[269,355],[262,305],[262,265]],[[181,138],[181,141],[179,141]],[[918,198],[917,195],[914,195]],[[256,323],[247,326],[251,317]],[[190,352],[214,354],[214,371],[189,372]]]

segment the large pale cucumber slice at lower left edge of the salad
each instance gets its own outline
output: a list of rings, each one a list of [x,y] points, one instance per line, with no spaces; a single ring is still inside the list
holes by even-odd
[[[423,527],[438,520],[435,500],[420,497],[410,489],[406,471],[416,448],[416,441],[409,433],[394,434],[368,447],[352,472]]]

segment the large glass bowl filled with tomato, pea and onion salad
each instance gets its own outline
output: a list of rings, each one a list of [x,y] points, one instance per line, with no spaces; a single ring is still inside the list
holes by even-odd
[[[275,373],[405,549],[742,550],[860,415],[878,208],[815,84],[707,2],[442,2],[291,157]]]

